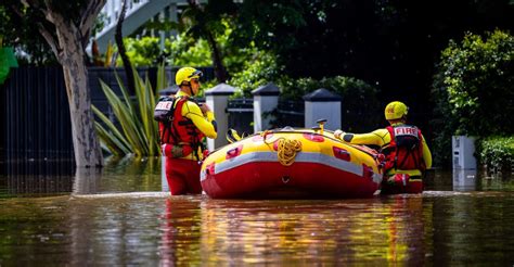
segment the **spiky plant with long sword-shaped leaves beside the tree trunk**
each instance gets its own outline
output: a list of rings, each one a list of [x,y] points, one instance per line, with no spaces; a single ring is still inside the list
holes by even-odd
[[[143,80],[134,71],[136,101],[133,101],[123,81],[117,77],[121,97],[101,82],[103,92],[120,125],[118,129],[100,110],[93,106],[93,112],[99,118],[95,122],[97,132],[100,140],[116,156],[129,153],[136,156],[153,156],[159,154],[158,127],[153,119],[157,91],[163,89],[167,82],[164,75],[164,66],[160,65],[157,74],[157,87],[152,88],[150,80]]]

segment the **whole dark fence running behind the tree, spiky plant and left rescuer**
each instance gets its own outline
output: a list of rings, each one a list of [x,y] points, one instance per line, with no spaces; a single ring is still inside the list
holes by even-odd
[[[205,79],[214,78],[213,67],[200,69],[204,72]],[[120,94],[115,74],[126,84],[124,68],[89,67],[88,71],[92,104],[104,114],[112,115],[100,79]],[[165,71],[168,81],[174,84],[178,67],[167,67]],[[156,67],[141,67],[137,72],[141,77],[147,76],[155,82]],[[27,66],[13,68],[0,90],[2,173],[31,174],[39,169],[14,163],[64,161],[73,166],[72,126],[62,68]],[[5,164],[7,162],[9,164]]]

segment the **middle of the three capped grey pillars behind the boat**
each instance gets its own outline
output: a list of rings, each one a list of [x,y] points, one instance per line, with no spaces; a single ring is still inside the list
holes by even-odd
[[[254,94],[254,132],[270,128],[271,118],[262,117],[265,112],[271,112],[279,105],[280,89],[273,82],[252,91]]]

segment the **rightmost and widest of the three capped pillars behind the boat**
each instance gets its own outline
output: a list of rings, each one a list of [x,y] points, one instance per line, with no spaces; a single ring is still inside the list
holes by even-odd
[[[325,129],[340,129],[340,100],[342,97],[324,88],[320,88],[304,96],[305,127],[316,126],[316,120],[326,118]]]

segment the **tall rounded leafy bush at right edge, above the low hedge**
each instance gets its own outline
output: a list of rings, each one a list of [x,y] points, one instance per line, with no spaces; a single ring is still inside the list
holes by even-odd
[[[496,30],[467,34],[442,51],[442,69],[458,134],[512,132],[514,123],[514,37]]]

